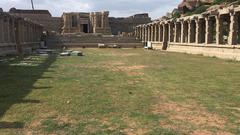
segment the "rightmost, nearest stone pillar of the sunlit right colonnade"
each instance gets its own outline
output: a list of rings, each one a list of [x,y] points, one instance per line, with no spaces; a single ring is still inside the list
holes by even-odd
[[[229,37],[228,37],[228,44],[229,45],[237,45],[238,44],[238,29],[239,29],[239,22],[238,16],[236,13],[230,13],[230,30],[229,30]]]

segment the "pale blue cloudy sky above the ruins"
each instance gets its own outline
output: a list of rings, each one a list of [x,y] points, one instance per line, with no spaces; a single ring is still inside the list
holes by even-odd
[[[0,0],[0,7],[30,9],[31,0]],[[53,16],[63,12],[110,11],[110,16],[126,17],[136,13],[149,13],[159,18],[177,7],[181,0],[34,0],[36,9],[48,9]]]

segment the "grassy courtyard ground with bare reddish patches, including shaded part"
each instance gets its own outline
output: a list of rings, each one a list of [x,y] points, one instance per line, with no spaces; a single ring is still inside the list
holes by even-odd
[[[240,134],[240,62],[82,51],[0,62],[0,134]]]

